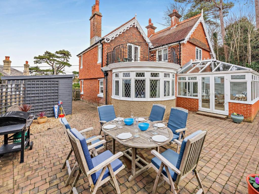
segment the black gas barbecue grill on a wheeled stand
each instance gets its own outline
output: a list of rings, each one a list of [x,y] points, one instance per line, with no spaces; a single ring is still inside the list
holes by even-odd
[[[24,161],[24,149],[30,145],[33,147],[33,141],[30,143],[30,125],[34,115],[23,111],[10,111],[0,115],[0,135],[4,135],[4,145],[0,147],[0,156],[10,152],[21,151],[20,163]],[[27,131],[27,135],[25,133]],[[14,133],[8,137],[8,134]],[[8,144],[8,141],[14,140],[14,136],[21,133],[21,142]]]

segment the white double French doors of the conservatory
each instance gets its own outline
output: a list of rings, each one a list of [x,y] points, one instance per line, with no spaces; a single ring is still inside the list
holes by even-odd
[[[226,76],[200,76],[199,110],[228,115]]]

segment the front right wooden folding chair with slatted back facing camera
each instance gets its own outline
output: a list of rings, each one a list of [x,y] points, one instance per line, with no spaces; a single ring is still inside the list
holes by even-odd
[[[205,194],[196,167],[199,162],[206,133],[207,131],[198,130],[184,138],[182,142],[176,141],[175,143],[181,145],[179,154],[171,149],[168,149],[161,154],[155,150],[151,151],[151,153],[155,155],[151,160],[151,166],[157,172],[152,194],[156,193],[157,187],[164,183],[164,181],[169,183],[171,191],[174,194],[177,194],[176,189],[179,189],[179,182],[192,171],[195,173],[200,189],[202,189],[199,190],[198,193]],[[164,181],[158,183],[160,177]]]

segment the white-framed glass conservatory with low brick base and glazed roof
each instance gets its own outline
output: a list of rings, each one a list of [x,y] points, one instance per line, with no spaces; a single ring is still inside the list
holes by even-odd
[[[259,74],[213,59],[190,61],[177,71],[177,106],[253,121],[258,112]]]

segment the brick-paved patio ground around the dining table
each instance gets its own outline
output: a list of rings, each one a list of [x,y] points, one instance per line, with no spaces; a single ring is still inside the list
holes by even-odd
[[[198,171],[208,194],[247,193],[246,176],[259,174],[258,122],[258,115],[253,123],[236,124],[230,119],[222,121],[189,112],[187,135],[198,129],[208,130],[198,164]],[[93,126],[94,130],[89,136],[98,135],[100,125],[97,108],[81,101],[73,102],[73,115],[69,123],[77,130]],[[70,145],[62,131],[60,126],[33,135],[34,147],[33,150],[26,150],[24,163],[19,163],[19,153],[4,155],[0,159],[0,193],[67,193],[70,185],[64,185],[68,173],[66,169],[61,170],[61,167],[70,151]],[[108,148],[111,149],[111,145]],[[126,149],[127,147],[116,144],[116,151]],[[149,162],[153,157],[150,151],[138,150]],[[123,158],[121,160],[124,162]],[[74,158],[70,162],[75,163]],[[152,192],[156,177],[152,168],[128,182],[130,174],[131,171],[127,168],[118,174],[121,193]],[[197,192],[197,188],[198,182],[190,174],[181,182],[180,193]],[[90,193],[87,178],[80,177],[77,191]],[[162,185],[157,191],[170,193],[169,185]],[[108,182],[97,193],[112,194],[115,191]]]

